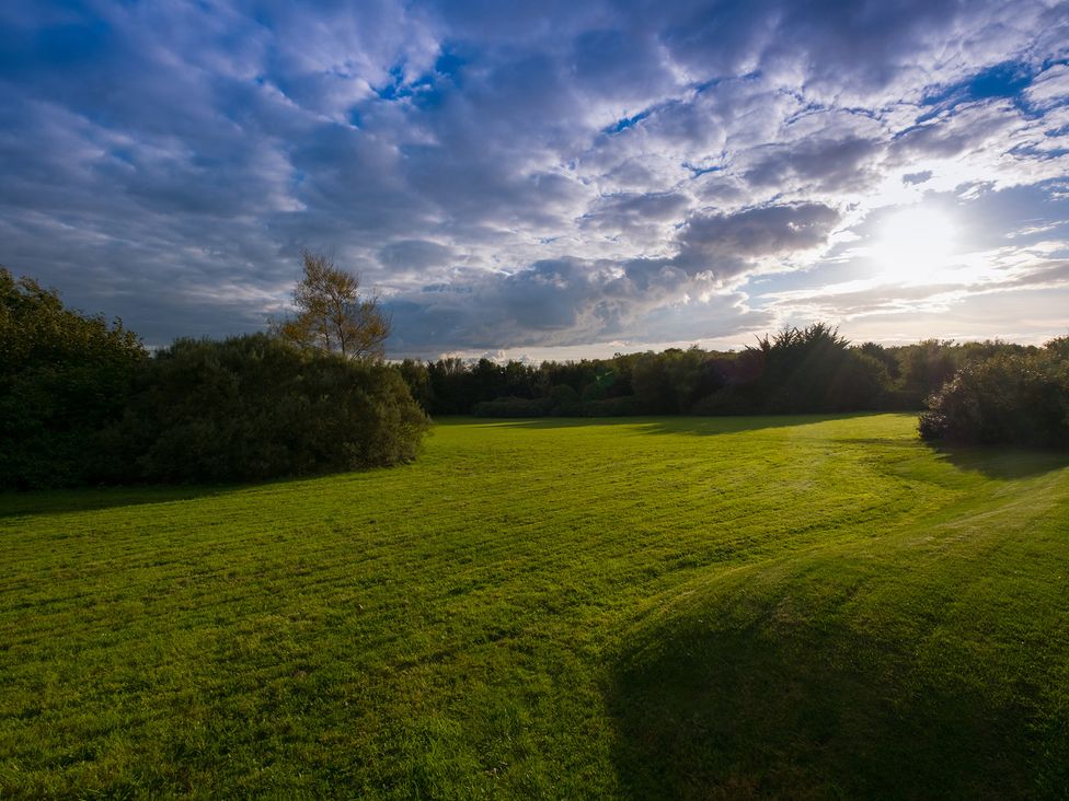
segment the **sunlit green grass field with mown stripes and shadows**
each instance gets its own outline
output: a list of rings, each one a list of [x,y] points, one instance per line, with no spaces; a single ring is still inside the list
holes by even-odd
[[[0,538],[3,797],[1069,794],[1069,458],[911,416],[447,421]]]

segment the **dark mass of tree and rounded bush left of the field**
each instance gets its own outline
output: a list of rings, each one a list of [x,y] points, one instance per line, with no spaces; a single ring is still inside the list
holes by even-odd
[[[0,268],[0,487],[230,481],[413,458],[396,370],[266,334],[150,355],[120,322]]]

